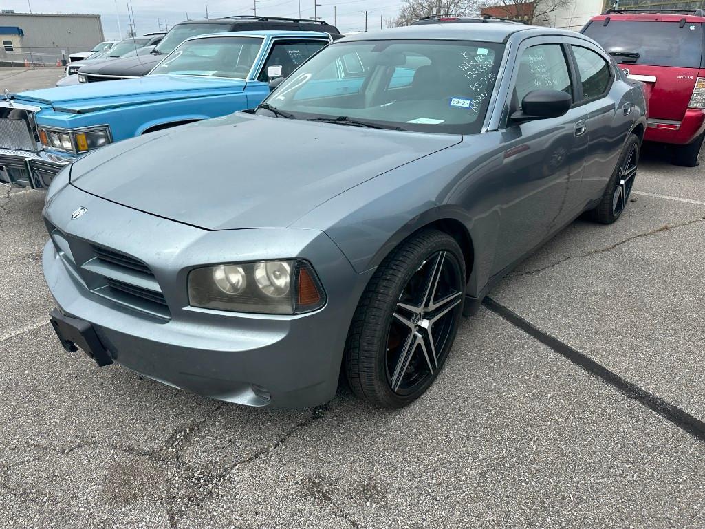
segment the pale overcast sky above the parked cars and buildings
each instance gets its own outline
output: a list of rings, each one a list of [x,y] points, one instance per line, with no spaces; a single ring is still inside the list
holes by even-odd
[[[253,1],[208,0],[211,18],[229,15],[252,15]],[[338,29],[341,32],[364,30],[364,14],[372,11],[367,18],[370,30],[379,29],[379,17],[393,18],[399,11],[401,0],[259,0],[257,14],[269,16],[296,16],[311,18],[314,15],[314,1],[321,4],[318,16],[333,23],[333,6],[338,6]],[[117,10],[123,35],[128,28],[127,5],[125,0],[0,0],[0,7],[14,9],[18,13],[97,13],[102,15],[103,30],[108,39],[118,38]],[[60,6],[65,6],[61,7]],[[204,0],[133,0],[135,21],[138,33],[157,31],[157,19],[164,28],[166,19],[169,28],[188,18],[205,18]]]

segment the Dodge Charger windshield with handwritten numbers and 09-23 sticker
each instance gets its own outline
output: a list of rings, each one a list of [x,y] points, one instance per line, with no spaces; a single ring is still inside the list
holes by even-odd
[[[503,45],[486,42],[340,42],[304,63],[266,103],[278,115],[341,125],[478,133],[502,54]]]

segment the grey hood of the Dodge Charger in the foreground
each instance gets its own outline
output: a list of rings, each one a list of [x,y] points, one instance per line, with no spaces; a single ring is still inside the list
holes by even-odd
[[[284,228],[353,186],[461,141],[238,112],[97,150],[73,164],[71,183],[202,229]]]

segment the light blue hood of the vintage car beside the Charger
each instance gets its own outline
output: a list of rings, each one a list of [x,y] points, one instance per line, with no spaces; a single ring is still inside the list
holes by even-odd
[[[21,92],[18,101],[51,105],[56,111],[85,114],[134,104],[165,102],[185,97],[204,97],[214,93],[242,92],[245,81],[190,75],[147,75],[139,79],[111,83],[83,83],[71,87],[45,88]]]

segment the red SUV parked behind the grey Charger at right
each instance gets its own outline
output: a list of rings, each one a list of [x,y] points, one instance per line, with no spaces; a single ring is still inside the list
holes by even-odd
[[[671,143],[673,163],[698,164],[705,136],[705,12],[613,10],[581,32],[596,40],[623,73],[646,85],[645,140]]]

